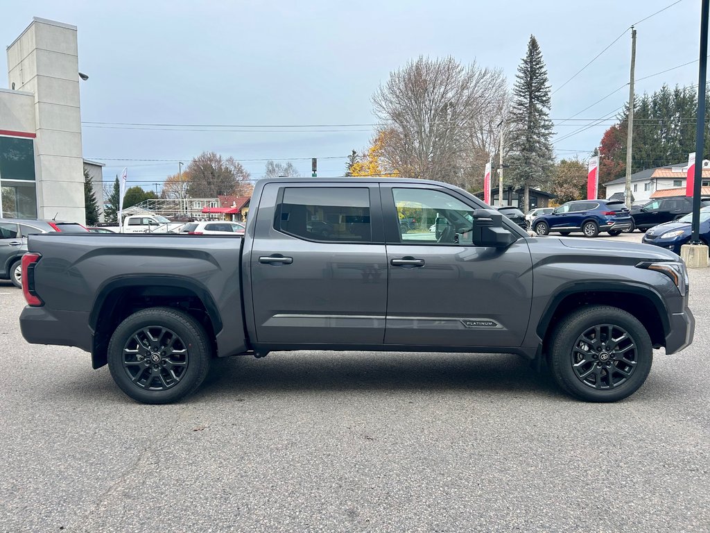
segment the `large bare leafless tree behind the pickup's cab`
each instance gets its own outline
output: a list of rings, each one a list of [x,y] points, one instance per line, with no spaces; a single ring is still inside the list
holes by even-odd
[[[488,159],[505,99],[501,70],[420,57],[391,72],[372,97],[387,132],[383,158],[402,176],[465,186],[472,161]]]

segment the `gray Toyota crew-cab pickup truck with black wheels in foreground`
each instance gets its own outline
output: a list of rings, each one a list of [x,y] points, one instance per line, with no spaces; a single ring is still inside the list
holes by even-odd
[[[423,180],[260,181],[244,237],[32,235],[23,279],[28,342],[90,352],[149,404],[195,391],[213,357],[273,350],[514,353],[613,402],[694,330],[672,252],[531,237]]]

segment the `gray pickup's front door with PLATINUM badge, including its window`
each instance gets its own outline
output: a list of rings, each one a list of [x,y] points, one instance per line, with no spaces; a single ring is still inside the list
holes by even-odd
[[[530,318],[532,259],[525,239],[506,249],[471,242],[472,200],[437,185],[381,185],[389,285],[388,345],[517,347]],[[398,218],[425,222],[395,232]],[[445,218],[437,237],[430,225]],[[503,218],[503,224],[512,224]],[[468,231],[467,231],[468,230]]]

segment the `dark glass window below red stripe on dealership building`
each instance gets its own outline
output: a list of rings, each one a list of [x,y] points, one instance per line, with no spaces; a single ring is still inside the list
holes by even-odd
[[[32,139],[0,136],[0,190],[2,217],[37,218]]]

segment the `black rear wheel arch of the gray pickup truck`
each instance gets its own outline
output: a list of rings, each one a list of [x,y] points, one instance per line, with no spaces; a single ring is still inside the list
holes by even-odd
[[[204,326],[214,343],[222,331],[217,303],[207,288],[193,279],[179,276],[126,276],[104,283],[97,291],[89,328],[94,333],[92,366],[107,364],[111,334],[124,319],[141,309],[167,306],[181,309]],[[214,346],[213,346],[214,348]]]

